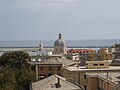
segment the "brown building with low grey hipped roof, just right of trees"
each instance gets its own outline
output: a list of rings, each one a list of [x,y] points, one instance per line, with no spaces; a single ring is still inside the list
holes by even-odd
[[[33,63],[36,66],[36,80],[51,76],[53,74],[61,75],[62,63],[56,59],[48,59]]]

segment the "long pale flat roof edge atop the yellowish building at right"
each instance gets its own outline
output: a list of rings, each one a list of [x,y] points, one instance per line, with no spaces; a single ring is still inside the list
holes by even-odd
[[[69,71],[110,71],[110,70],[120,70],[119,66],[109,66],[109,68],[93,68],[93,69],[88,69],[86,68],[86,66],[70,66],[70,67],[66,67],[66,70]]]

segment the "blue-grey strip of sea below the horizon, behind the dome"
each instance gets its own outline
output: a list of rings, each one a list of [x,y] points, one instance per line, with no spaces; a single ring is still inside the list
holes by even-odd
[[[19,40],[0,41],[0,47],[38,47],[43,43],[44,47],[53,47],[55,40]],[[99,39],[99,40],[66,40],[68,47],[104,47],[120,43],[120,39]]]

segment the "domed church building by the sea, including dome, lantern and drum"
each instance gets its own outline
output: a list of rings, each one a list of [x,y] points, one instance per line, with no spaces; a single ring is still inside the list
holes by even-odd
[[[62,34],[59,34],[59,38],[54,43],[53,54],[66,54],[66,53],[67,53],[67,45],[62,38]]]

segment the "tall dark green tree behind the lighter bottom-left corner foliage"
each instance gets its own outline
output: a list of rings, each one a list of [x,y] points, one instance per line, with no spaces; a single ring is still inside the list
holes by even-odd
[[[29,90],[29,85],[34,80],[34,72],[28,63],[29,60],[29,54],[21,51],[4,53],[0,57],[0,67],[9,66],[13,70],[17,90]]]

